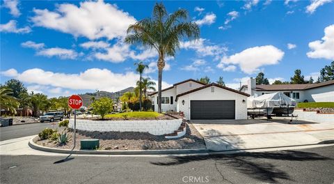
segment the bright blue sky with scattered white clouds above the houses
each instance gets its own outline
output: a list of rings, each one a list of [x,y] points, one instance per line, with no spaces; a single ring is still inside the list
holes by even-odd
[[[49,96],[134,86],[134,63],[157,54],[123,40],[129,24],[150,17],[156,1],[1,1],[1,84],[11,78]],[[189,11],[200,39],[183,40],[166,58],[163,87],[205,75],[239,82],[264,72],[269,81],[305,78],[334,60],[334,1],[164,1]]]

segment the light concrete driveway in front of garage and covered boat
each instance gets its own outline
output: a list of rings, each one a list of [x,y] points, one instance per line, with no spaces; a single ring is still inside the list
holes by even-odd
[[[334,123],[292,121],[289,118],[191,121],[207,149],[230,151],[318,144],[334,140]]]

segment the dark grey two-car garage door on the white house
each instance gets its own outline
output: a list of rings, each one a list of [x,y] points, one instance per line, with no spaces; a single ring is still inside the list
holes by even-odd
[[[191,100],[191,119],[234,119],[235,100]]]

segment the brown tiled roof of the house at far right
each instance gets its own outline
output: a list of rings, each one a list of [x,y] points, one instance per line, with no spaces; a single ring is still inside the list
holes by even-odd
[[[255,91],[289,91],[289,90],[306,90],[306,89],[315,89],[323,86],[328,86],[334,84],[334,80],[328,82],[321,82],[315,84],[271,84],[271,85],[256,85],[254,88]],[[244,85],[241,87],[248,87]]]

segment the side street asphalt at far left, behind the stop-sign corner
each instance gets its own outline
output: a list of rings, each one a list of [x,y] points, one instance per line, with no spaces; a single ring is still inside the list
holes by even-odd
[[[57,125],[58,122],[56,122]],[[55,126],[56,126],[55,125]],[[45,128],[52,128],[51,123],[31,123],[26,125],[13,125],[0,128],[0,141],[38,135]]]

